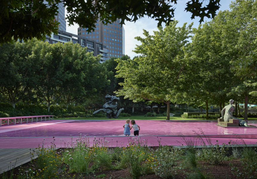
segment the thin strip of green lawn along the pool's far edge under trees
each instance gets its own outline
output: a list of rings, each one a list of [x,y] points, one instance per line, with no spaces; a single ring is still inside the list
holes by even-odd
[[[126,119],[134,119],[134,120],[166,120],[166,116],[161,117],[144,117],[143,115],[131,115],[130,117],[119,117],[117,119],[111,118],[107,119],[104,118],[54,118],[55,120],[126,120]],[[244,118],[240,118],[244,119]],[[170,120],[205,120],[205,119],[184,119],[180,116],[174,116],[170,117]],[[216,119],[210,119],[210,120],[216,120]],[[248,118],[248,120],[257,120],[257,118]]]

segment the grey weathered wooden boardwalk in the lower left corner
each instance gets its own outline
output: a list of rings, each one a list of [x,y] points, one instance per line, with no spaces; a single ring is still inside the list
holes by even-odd
[[[31,148],[31,150],[27,148],[0,149],[0,174],[13,169],[14,166],[21,166],[22,164],[31,161],[30,152],[32,152],[33,150],[36,150],[36,148]],[[35,158],[37,158],[37,155],[34,155],[33,159]]]

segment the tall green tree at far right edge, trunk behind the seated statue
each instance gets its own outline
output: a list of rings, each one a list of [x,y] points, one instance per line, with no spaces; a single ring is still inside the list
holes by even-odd
[[[231,11],[222,13],[221,23],[224,55],[230,59],[235,74],[242,83],[235,89],[244,91],[244,119],[247,120],[248,95],[256,91],[256,49],[257,49],[257,1],[236,0],[230,4]],[[253,84],[253,85],[252,85]],[[249,87],[255,88],[249,91]],[[241,90],[239,90],[241,91]]]

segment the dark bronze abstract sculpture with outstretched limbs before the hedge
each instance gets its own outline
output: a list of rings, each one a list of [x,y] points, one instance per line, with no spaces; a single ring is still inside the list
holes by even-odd
[[[106,95],[105,96],[105,101],[107,101],[103,105],[103,109],[99,109],[95,111],[93,114],[96,114],[97,112],[106,112],[107,119],[113,118],[118,118],[120,113],[124,110],[124,108],[121,108],[119,111],[117,111],[117,101],[119,101],[120,98],[117,98],[117,96],[110,96]]]

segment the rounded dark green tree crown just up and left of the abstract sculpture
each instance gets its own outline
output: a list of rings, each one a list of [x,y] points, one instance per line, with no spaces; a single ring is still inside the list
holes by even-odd
[[[109,83],[99,60],[100,55],[94,57],[79,44],[62,44],[62,59],[56,73],[61,81],[58,95],[67,108],[71,103],[83,103]]]

